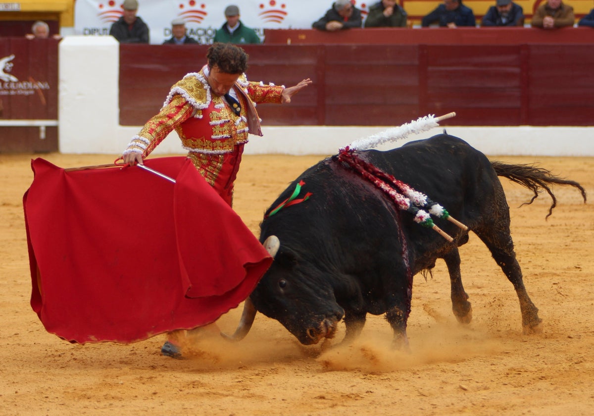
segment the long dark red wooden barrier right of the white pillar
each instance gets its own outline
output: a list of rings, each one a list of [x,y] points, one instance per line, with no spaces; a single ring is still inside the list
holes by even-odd
[[[368,43],[290,45],[267,33],[266,44],[245,46],[249,79],[289,86],[310,77],[314,84],[290,105],[258,112],[266,125],[391,126],[450,111],[456,125],[594,125],[594,30],[465,29],[388,29],[390,37],[361,29]],[[304,31],[273,32],[295,39]],[[469,39],[465,33],[472,43],[447,43]],[[374,43],[374,36],[406,42]],[[206,63],[206,49],[121,45],[121,124],[142,125],[156,114],[169,87]]]

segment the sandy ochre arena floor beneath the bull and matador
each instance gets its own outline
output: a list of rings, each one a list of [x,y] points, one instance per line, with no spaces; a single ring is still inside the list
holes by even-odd
[[[133,345],[71,345],[45,331],[30,308],[22,197],[31,157],[64,168],[106,155],[0,155],[0,415],[588,415],[594,412],[594,204],[555,188],[542,195],[503,179],[512,235],[544,333],[522,335],[510,282],[471,234],[460,249],[473,322],[451,312],[450,283],[415,276],[411,354],[390,349],[391,330],[370,316],[350,347],[304,347],[259,314],[244,341],[205,339],[188,360],[159,354],[165,336]],[[263,212],[323,156],[245,156],[235,209],[255,233]],[[538,162],[594,196],[593,157],[491,157]],[[219,320],[231,332],[241,309]],[[342,338],[344,325],[337,336]]]

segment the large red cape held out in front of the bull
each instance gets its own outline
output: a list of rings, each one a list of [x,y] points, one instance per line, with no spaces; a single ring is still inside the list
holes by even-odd
[[[31,162],[31,307],[70,342],[134,342],[213,322],[272,262],[191,160],[65,172]]]

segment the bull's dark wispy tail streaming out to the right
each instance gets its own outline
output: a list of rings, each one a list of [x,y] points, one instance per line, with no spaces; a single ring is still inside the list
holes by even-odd
[[[557,206],[557,198],[555,198],[555,194],[551,190],[551,185],[569,185],[579,189],[584,198],[584,203],[586,203],[586,190],[584,190],[582,185],[576,181],[557,177],[547,169],[537,168],[535,165],[508,165],[503,162],[491,162],[491,166],[495,169],[497,176],[510,179],[510,181],[516,182],[516,184],[520,184],[534,193],[532,199],[522,205],[532,204],[532,201],[538,198],[541,190],[545,190],[552,199],[552,204],[549,207],[549,213],[546,215],[546,218],[549,218],[553,212],[553,208]]]

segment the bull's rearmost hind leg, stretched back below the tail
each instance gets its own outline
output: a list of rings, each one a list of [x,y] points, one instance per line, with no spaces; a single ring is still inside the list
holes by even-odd
[[[485,245],[491,251],[493,259],[497,262],[507,279],[514,285],[520,301],[522,312],[522,327],[524,333],[542,332],[542,319],[538,317],[538,308],[532,303],[522,278],[522,269],[516,259],[514,243],[511,239],[509,222],[504,229],[494,227],[489,232],[475,230]]]

